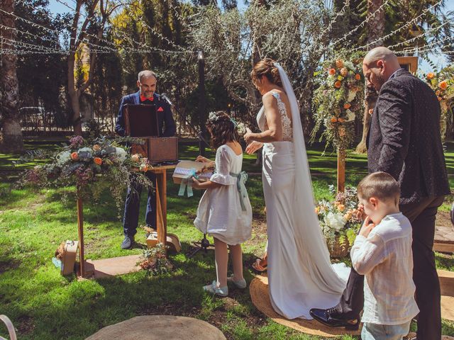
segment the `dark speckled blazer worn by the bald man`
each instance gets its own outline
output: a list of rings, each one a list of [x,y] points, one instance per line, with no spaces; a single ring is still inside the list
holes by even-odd
[[[400,204],[450,193],[440,135],[440,104],[433,90],[404,69],[380,89],[367,136],[369,172],[399,181]]]

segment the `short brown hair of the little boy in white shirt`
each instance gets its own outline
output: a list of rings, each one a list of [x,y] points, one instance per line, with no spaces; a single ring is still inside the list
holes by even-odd
[[[358,197],[368,200],[376,197],[379,200],[396,199],[399,200],[399,183],[386,172],[374,172],[365,176],[358,184]]]

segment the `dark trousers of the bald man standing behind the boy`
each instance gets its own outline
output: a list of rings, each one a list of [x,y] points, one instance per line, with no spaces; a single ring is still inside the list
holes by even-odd
[[[440,282],[433,254],[435,217],[444,196],[423,198],[419,203],[401,205],[402,213],[413,228],[413,280],[416,285],[416,303],[419,307],[417,339],[441,339]],[[364,306],[364,276],[353,268],[343,291],[341,302],[336,305],[336,317],[357,319]]]

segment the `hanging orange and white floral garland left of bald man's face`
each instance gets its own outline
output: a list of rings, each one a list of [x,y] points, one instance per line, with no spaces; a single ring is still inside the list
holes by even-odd
[[[353,122],[362,117],[364,109],[361,60],[358,55],[346,57],[341,53],[335,59],[323,62],[314,73],[318,88],[312,98],[315,120],[312,141],[323,128],[320,140],[325,138],[327,146],[347,149],[353,142]]]

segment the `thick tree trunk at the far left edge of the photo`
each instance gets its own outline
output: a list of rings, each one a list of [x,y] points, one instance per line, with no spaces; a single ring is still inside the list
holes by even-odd
[[[12,13],[14,11],[14,0],[2,0],[1,9]],[[2,15],[1,23],[12,29],[1,29],[0,35],[5,39],[16,40],[16,23],[13,16]],[[9,40],[6,40],[9,41]],[[4,42],[4,49],[16,50],[16,47]],[[17,79],[17,55],[6,53],[1,55],[0,86],[1,86],[1,108],[3,117],[2,135],[0,145],[2,152],[19,153],[23,149],[23,136],[21,120],[19,115],[19,84]]]

